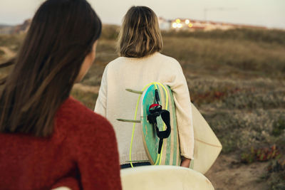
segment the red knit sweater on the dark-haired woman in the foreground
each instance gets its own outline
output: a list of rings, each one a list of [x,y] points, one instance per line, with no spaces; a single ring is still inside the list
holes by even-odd
[[[0,189],[121,189],[110,123],[69,97],[49,138],[0,134]]]

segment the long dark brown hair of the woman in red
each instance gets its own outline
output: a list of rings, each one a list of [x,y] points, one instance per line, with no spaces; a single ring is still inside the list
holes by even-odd
[[[69,96],[101,26],[86,0],[48,0],[39,7],[3,82],[0,132],[52,134],[56,110]]]

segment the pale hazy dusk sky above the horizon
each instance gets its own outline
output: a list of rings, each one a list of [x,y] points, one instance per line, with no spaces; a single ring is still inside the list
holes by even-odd
[[[0,23],[32,18],[42,0],[0,0]],[[196,19],[285,29],[285,0],[89,0],[103,23],[120,24],[130,6],[149,6],[165,19]],[[205,11],[206,10],[206,11]],[[205,15],[206,13],[206,15]]]

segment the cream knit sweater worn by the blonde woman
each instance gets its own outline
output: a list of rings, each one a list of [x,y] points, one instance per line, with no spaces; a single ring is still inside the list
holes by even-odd
[[[144,58],[120,57],[105,67],[95,112],[106,117],[115,129],[120,164],[128,164],[133,123],[116,119],[133,120],[138,95],[125,89],[142,90],[148,83],[160,82],[170,86],[176,106],[180,152],[193,159],[194,132],[190,95],[180,63],[174,58],[154,53]],[[140,107],[139,109],[140,110]],[[140,120],[138,113],[137,120]],[[132,149],[132,160],[148,160],[142,144],[141,125],[137,124]],[[106,150],[108,151],[108,150]]]

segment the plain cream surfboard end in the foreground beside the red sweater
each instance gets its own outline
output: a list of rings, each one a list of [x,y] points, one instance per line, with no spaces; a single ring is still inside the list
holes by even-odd
[[[120,170],[123,190],[212,190],[203,174],[183,167],[145,166]]]

